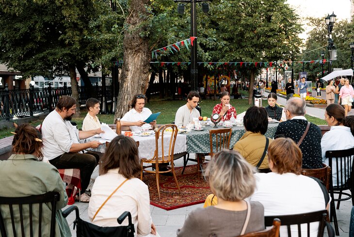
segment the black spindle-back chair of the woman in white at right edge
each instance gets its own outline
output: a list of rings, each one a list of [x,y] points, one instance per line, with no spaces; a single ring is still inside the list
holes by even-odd
[[[354,148],[338,151],[326,151],[328,165],[331,167],[331,177],[329,192],[331,194],[331,220],[333,219],[336,235],[339,235],[337,214],[334,202],[337,201],[337,209],[339,209],[340,201],[352,199],[354,205],[354,197],[351,193],[343,192],[345,190],[353,191],[353,162]],[[336,178],[336,181],[333,181]],[[338,198],[334,198],[334,194],[338,194]],[[346,197],[342,198],[342,195]]]

